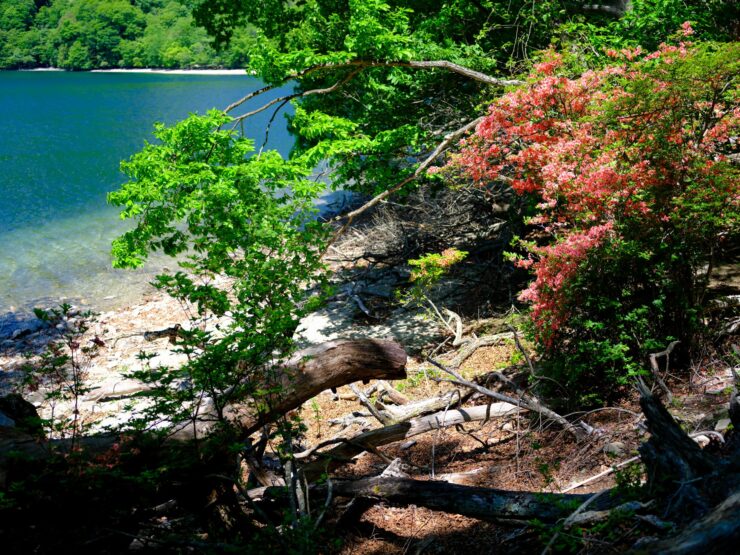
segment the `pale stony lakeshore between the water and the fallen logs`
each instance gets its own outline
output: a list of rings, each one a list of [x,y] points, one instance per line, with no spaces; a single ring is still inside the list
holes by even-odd
[[[335,295],[316,312],[306,316],[298,326],[295,340],[308,347],[338,338],[395,339],[413,352],[434,345],[441,334],[440,323],[418,308],[405,308],[394,298],[394,288],[405,281],[398,271],[380,271],[370,275],[337,274]],[[451,284],[454,289],[454,283]],[[82,358],[86,386],[90,389],[81,399],[80,414],[91,431],[100,431],[129,420],[132,396],[144,386],[126,374],[142,368],[140,354],[146,352],[152,368],[177,367],[186,356],[176,352],[173,330],[193,325],[187,310],[175,299],[152,289],[142,301],[117,309],[85,316],[85,309],[72,307],[67,318],[51,326],[39,319],[27,319],[22,325],[7,330],[0,337],[0,396],[20,391],[24,366],[38,361],[53,341],[65,330],[85,319],[87,331],[79,339],[82,346],[96,346],[90,356]],[[206,329],[228,324],[228,319],[197,322]],[[43,418],[70,414],[71,401],[57,402],[52,407],[45,401],[45,391],[23,391],[23,396],[36,405]]]

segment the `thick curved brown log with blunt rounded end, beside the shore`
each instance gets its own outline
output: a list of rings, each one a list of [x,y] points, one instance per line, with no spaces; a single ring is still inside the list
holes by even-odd
[[[324,390],[370,379],[406,377],[406,352],[395,341],[375,339],[340,340],[322,343],[295,354],[276,371],[263,378],[258,388],[276,391],[263,399],[264,408],[232,405],[225,417],[249,436],[265,424],[300,407]],[[212,410],[198,420],[181,425],[173,438],[194,439],[207,434],[216,421]]]

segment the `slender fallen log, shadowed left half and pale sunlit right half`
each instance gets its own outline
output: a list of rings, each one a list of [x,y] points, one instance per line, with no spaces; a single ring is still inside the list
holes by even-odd
[[[369,448],[388,445],[396,441],[402,441],[432,430],[438,430],[449,426],[458,426],[466,422],[476,422],[488,418],[500,418],[515,414],[519,407],[509,403],[493,403],[479,407],[471,407],[459,410],[441,411],[430,416],[414,418],[408,422],[401,422],[370,430],[355,437],[345,440],[340,445],[317,453],[321,458],[307,464],[303,472],[307,479],[314,480],[324,472],[333,470]]]

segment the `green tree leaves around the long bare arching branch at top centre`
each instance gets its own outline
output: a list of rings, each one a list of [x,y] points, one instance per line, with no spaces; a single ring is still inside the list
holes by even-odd
[[[297,79],[298,90],[307,91],[351,77],[330,94],[302,98],[292,127],[298,153],[328,159],[336,186],[366,193],[411,175],[440,136],[480,115],[500,87],[446,70],[372,67],[354,74],[354,66],[338,65],[449,60],[507,75],[571,17],[566,2],[552,0],[204,1],[194,14],[220,41],[252,25],[258,40],[250,68],[268,82],[310,70]],[[317,117],[345,122],[342,137],[316,136],[309,128]]]

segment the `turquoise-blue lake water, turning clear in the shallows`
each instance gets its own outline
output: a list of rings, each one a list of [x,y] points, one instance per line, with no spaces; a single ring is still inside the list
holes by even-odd
[[[110,266],[110,242],[126,226],[106,204],[124,181],[120,161],[151,139],[154,122],[224,108],[260,86],[247,75],[0,72],[0,319],[60,300],[102,309],[141,294],[165,262],[140,272]],[[270,116],[245,126],[258,144]],[[269,139],[287,154],[284,118]]]

